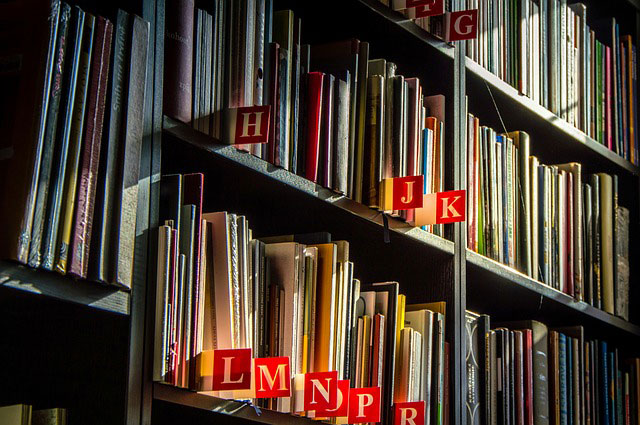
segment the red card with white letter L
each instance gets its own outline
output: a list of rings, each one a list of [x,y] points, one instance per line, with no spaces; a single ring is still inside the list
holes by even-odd
[[[214,391],[251,389],[251,348],[214,350]]]

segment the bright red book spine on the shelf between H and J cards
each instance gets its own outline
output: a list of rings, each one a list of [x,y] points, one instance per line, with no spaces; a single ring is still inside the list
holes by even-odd
[[[320,122],[322,121],[322,82],[324,74],[310,72],[307,93],[307,158],[305,177],[318,181],[318,156],[320,153]]]

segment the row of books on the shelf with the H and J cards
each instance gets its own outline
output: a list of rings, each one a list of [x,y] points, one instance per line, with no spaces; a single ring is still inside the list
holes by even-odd
[[[228,108],[270,105],[268,143],[241,149],[371,207],[383,178],[444,190],[444,96],[369,59],[368,43],[303,44],[301,20],[270,1],[167,7],[167,115],[222,138]]]

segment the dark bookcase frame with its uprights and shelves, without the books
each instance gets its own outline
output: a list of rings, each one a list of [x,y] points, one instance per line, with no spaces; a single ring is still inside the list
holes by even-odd
[[[640,34],[640,1],[615,0],[607,6],[598,5],[597,0],[588,3],[595,10],[602,8],[603,13],[629,13],[626,19],[634,22],[635,34]],[[548,163],[579,161],[585,165],[586,172],[616,173],[620,178],[621,203],[631,209],[633,217],[630,234],[638,234],[640,167],[557,118],[475,62],[465,59],[464,49],[460,48],[463,44],[454,47],[431,36],[377,0],[336,0],[323,5],[282,0],[276,1],[275,7],[292,8],[296,16],[302,17],[305,41],[314,43],[347,37],[370,41],[372,58],[386,57],[397,61],[408,75],[432,81],[427,83],[427,91],[447,96],[446,189],[466,186],[465,96],[468,97],[469,112],[478,114],[483,124],[501,131],[502,124],[489,95],[491,90],[507,130],[523,130],[532,136],[532,154]],[[21,325],[25,329],[37,328],[41,332],[49,329],[35,318],[38,308],[45,306],[47,312],[55,313],[61,321],[86,321],[81,326],[82,332],[91,332],[93,325],[100,330],[93,338],[80,336],[80,331],[66,333],[71,340],[82,341],[70,343],[71,350],[86,349],[96,340],[100,343],[76,367],[62,360],[64,349],[58,347],[54,350],[56,362],[51,362],[53,366],[49,367],[75,370],[76,373],[89,370],[93,362],[103,360],[98,351],[109,348],[108,328],[112,328],[113,338],[118,341],[115,354],[107,364],[116,370],[118,377],[113,379],[115,382],[109,381],[105,397],[117,403],[118,408],[108,416],[109,423],[163,424],[183,415],[193,423],[312,423],[305,418],[271,411],[257,415],[253,408],[243,403],[153,382],[159,181],[162,175],[172,172],[204,172],[206,187],[218,184],[221,188],[207,193],[206,209],[246,214],[258,235],[326,230],[336,240],[351,241],[353,260],[359,265],[358,274],[363,280],[398,280],[412,302],[447,301],[447,339],[452,344],[451,424],[466,423],[464,320],[467,308],[488,313],[497,320],[531,318],[550,325],[582,324],[590,336],[606,337],[630,354],[640,354],[640,316],[633,313],[634,307],[637,310],[640,305],[639,289],[632,289],[632,316],[628,322],[469,251],[465,243],[466,226],[462,224],[447,226],[446,238],[441,238],[391,217],[388,221],[390,243],[385,243],[384,221],[378,212],[165,116],[162,110],[165,0],[140,0],[134,11],[150,22],[151,48],[139,182],[135,278],[131,291],[0,262],[0,298],[6,296],[9,300],[2,305],[15,301],[18,307],[14,310],[27,311],[23,315],[9,313],[13,319],[10,323],[26,317],[30,323]],[[327,20],[331,20],[335,28],[331,34],[326,30]],[[356,20],[358,23],[354,25]],[[416,60],[416,57],[420,59]],[[425,67],[425,63],[429,66]],[[279,202],[273,202],[273,198]],[[297,207],[292,208],[294,205]],[[636,258],[639,246],[638,241],[630,242],[630,258]],[[631,276],[632,288],[637,287],[638,264],[632,264]],[[5,312],[0,318],[4,315]],[[17,345],[23,351],[47,350],[55,346],[53,339],[34,346],[27,341],[28,337],[14,336],[19,339]],[[40,359],[30,355],[28,360],[34,358]],[[12,360],[15,357],[6,358],[6,362]],[[27,363],[24,361],[21,366],[26,367]],[[64,378],[63,372],[54,375],[51,381]],[[65,387],[62,399],[71,400],[82,390],[109,379],[108,375],[102,371],[92,375],[93,380],[78,378],[82,381],[82,385],[78,385],[80,388]],[[19,374],[14,373],[11,382],[20,379]],[[30,381],[33,380],[31,374]],[[29,382],[20,385],[18,394],[30,394],[29,386]],[[0,401],[18,402],[5,392],[0,394],[3,397]],[[42,403],[59,399],[38,390],[32,400]],[[99,411],[100,407],[88,406],[82,410],[83,418],[91,418],[91,409]],[[86,423],[90,423],[90,419]]]

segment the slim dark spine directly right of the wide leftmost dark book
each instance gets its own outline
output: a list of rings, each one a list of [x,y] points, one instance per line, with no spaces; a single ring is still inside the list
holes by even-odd
[[[55,137],[58,128],[58,112],[60,110],[60,98],[62,91],[62,79],[67,51],[67,39],[69,34],[69,20],[71,7],[63,3],[60,7],[60,20],[56,40],[56,52],[54,56],[54,68],[51,78],[51,92],[47,108],[44,140],[40,158],[40,173],[38,177],[38,189],[36,192],[35,210],[33,214],[33,227],[31,229],[31,244],[29,246],[29,260],[31,267],[40,266],[42,260],[42,238],[45,224],[45,210],[49,196],[49,179],[53,165],[55,150]]]

